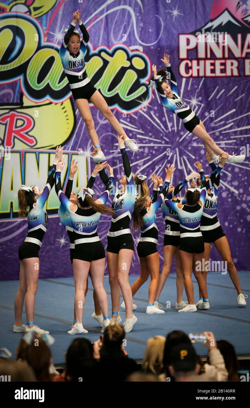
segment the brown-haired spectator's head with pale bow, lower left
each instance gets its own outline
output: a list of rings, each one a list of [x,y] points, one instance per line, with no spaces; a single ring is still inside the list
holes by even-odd
[[[32,338],[29,339],[29,344],[26,347],[25,359],[33,368],[37,381],[50,381],[51,353],[42,337],[44,336],[39,333],[32,333]]]

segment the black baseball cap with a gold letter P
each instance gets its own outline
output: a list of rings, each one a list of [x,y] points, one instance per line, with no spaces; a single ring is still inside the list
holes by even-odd
[[[196,353],[192,344],[183,343],[173,347],[170,355],[170,365],[176,372],[194,371],[196,366]]]

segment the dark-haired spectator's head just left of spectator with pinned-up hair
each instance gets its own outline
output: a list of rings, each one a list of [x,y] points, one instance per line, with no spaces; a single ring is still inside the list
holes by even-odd
[[[71,381],[86,380],[94,364],[93,344],[88,339],[78,338],[72,341],[66,353],[66,377]]]

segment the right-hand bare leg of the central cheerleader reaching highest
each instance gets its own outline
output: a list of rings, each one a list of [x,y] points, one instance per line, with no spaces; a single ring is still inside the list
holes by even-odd
[[[120,249],[118,253],[117,281],[126,306],[126,319],[133,317],[133,298],[129,285],[129,269],[133,255],[134,251],[131,249]]]

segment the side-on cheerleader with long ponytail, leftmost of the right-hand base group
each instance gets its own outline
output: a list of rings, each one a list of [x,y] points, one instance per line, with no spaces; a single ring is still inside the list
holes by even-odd
[[[146,310],[148,314],[164,313],[164,310],[154,305],[160,270],[160,259],[156,246],[158,243],[156,211],[166,198],[170,178],[175,171],[174,165],[169,165],[165,171],[166,180],[157,199],[153,202],[149,195],[139,197],[136,199],[133,213],[133,228],[140,228],[141,231],[140,241],[137,245],[137,254],[140,260],[140,277],[132,284],[131,290],[132,296],[134,296],[138,289],[147,281],[150,274],[151,283],[149,285],[149,298]]]

